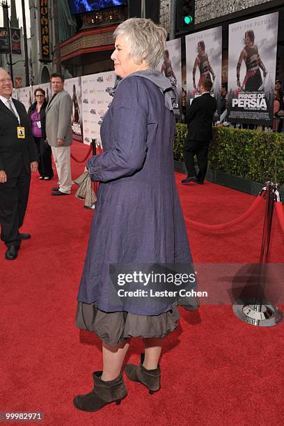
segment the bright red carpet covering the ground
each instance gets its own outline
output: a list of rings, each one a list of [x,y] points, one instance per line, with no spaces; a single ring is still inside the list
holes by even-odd
[[[75,143],[84,158],[88,148]],[[72,161],[72,177],[84,164]],[[254,198],[206,182],[178,189],[184,215],[203,223],[235,219]],[[3,259],[1,277],[0,411],[43,411],[45,425],[283,425],[283,323],[271,328],[244,324],[231,306],[182,308],[177,331],[165,340],[162,387],[149,395],[125,379],[128,396],[97,413],[73,408],[72,398],[92,387],[102,367],[100,340],[74,326],[76,297],[93,212],[74,196],[52,197],[56,186],[33,175],[22,232],[31,232],[15,261]],[[72,189],[74,194],[75,187]],[[231,230],[188,227],[196,262],[256,262],[263,211]],[[283,234],[274,221],[271,262],[283,262]],[[282,307],[283,309],[283,307]],[[138,362],[141,341],[128,359]],[[127,360],[128,361],[128,360]],[[14,423],[13,423],[14,424]],[[28,423],[31,424],[31,423]]]

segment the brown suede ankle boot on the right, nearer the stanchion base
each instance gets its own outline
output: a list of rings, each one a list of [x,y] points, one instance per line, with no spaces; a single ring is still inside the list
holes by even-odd
[[[141,363],[139,365],[127,364],[125,365],[125,373],[129,380],[139,381],[139,383],[146,386],[150,395],[157,392],[161,388],[161,370],[159,365],[154,370],[147,370],[143,367],[144,354],[141,354]]]

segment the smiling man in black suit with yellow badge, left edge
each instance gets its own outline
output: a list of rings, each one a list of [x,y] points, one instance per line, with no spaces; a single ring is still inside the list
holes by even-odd
[[[29,198],[31,172],[38,170],[38,153],[24,105],[12,99],[13,82],[0,68],[0,223],[5,258],[14,260],[22,239],[19,232]]]

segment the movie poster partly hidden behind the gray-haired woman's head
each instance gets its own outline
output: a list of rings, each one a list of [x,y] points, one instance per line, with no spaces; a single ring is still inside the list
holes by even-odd
[[[164,58],[159,62],[158,70],[171,79],[172,84],[176,88],[177,103],[173,106],[173,112],[175,113],[175,117],[179,119],[182,112],[182,47],[180,38],[166,42]]]

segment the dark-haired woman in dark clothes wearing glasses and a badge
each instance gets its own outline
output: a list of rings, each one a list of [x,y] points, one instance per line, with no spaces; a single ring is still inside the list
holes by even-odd
[[[45,90],[37,88],[35,90],[36,102],[33,102],[29,108],[28,114],[31,123],[33,139],[38,148],[38,171],[40,180],[50,180],[53,178],[52,169],[52,148],[47,144],[47,135],[45,133],[45,109],[47,101],[45,100]]]

